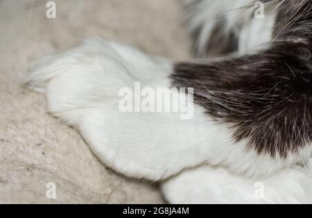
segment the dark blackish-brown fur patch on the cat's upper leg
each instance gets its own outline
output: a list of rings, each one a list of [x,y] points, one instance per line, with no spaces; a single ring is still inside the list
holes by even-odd
[[[194,100],[234,128],[248,148],[286,157],[312,142],[311,0],[279,5],[266,51],[208,64],[178,63],[176,87],[193,87]]]

